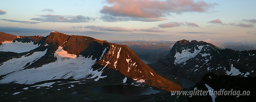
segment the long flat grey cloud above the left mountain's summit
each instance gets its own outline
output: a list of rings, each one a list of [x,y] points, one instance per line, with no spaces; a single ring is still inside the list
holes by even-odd
[[[77,15],[77,16],[63,16],[63,15],[37,15],[38,18],[32,18],[31,20],[41,21],[41,22],[70,22],[70,23],[77,23],[77,22],[90,22],[90,17]]]

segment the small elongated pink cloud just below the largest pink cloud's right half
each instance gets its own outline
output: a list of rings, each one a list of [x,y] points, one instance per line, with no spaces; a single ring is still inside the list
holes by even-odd
[[[170,22],[165,24],[159,24],[158,26],[161,28],[171,28],[171,27],[180,27],[180,26],[199,27],[196,23],[192,23],[192,22]]]

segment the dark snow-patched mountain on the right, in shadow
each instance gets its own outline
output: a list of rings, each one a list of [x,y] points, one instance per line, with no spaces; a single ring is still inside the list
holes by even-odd
[[[160,67],[161,66],[161,67]],[[220,49],[203,41],[177,41],[170,53],[151,68],[198,82],[205,73],[248,77],[255,76],[256,50]]]

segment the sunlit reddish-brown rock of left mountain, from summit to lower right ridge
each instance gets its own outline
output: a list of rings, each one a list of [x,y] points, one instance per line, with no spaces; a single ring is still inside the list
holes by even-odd
[[[167,91],[182,89],[176,83],[155,73],[128,46],[108,43],[107,41],[86,36],[70,36],[59,32],[51,32],[45,43],[57,43],[58,46],[63,46],[63,49],[68,53],[77,56],[81,52],[86,53],[86,57],[88,55],[98,56],[96,64],[116,69],[125,76],[147,85],[159,87]],[[101,49],[104,49],[105,52]],[[93,54],[95,51],[98,51],[98,55]]]

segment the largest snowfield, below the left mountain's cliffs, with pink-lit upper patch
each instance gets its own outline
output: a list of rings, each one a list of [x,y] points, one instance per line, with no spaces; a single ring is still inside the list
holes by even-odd
[[[75,57],[76,55],[68,54],[67,51],[64,51],[62,49],[62,47],[58,47],[54,55],[55,57],[57,57],[57,61],[49,64],[45,64],[42,67],[26,69],[26,70],[20,70],[20,68],[18,68],[19,66],[12,67],[11,65],[16,65],[13,63],[17,63],[17,62],[9,60],[8,63],[10,64],[6,65],[5,68],[6,69],[11,68],[13,69],[11,71],[15,71],[15,72],[10,73],[5,77],[3,77],[3,79],[0,80],[0,83],[14,82],[19,84],[34,84],[36,82],[52,80],[52,79],[68,79],[68,78],[90,79],[90,78],[98,77],[95,79],[95,81],[97,81],[100,78],[106,77],[106,76],[101,76],[102,70],[99,72],[97,70],[93,71],[91,67],[93,64],[95,64],[96,59],[92,60],[92,57],[91,58],[84,58],[82,56]],[[27,58],[27,59],[30,59],[30,58]],[[1,66],[1,68],[2,67],[3,65]],[[8,71],[8,72],[11,72],[11,71]],[[1,73],[8,73],[8,72],[4,72],[1,69]],[[92,74],[92,76],[89,76],[90,74]]]

